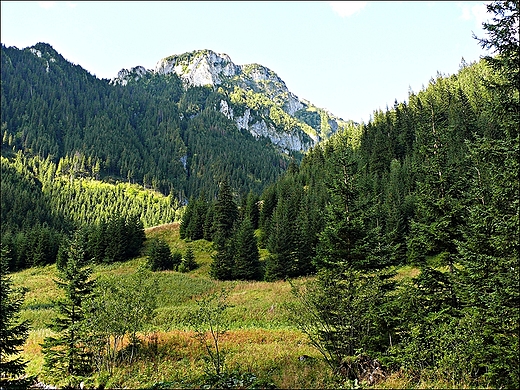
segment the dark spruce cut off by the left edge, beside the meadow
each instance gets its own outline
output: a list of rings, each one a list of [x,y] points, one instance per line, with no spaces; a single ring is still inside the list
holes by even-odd
[[[25,290],[13,288],[8,276],[9,253],[3,245],[0,251],[0,385],[22,386],[27,362],[14,356],[20,352],[29,334],[28,321],[19,321]]]

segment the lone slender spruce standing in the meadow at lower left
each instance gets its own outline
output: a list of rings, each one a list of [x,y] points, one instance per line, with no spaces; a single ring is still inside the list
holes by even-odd
[[[65,267],[59,269],[57,286],[64,290],[64,299],[58,301],[59,317],[50,324],[56,337],[47,337],[42,345],[45,358],[44,375],[53,381],[69,386],[78,377],[92,373],[92,356],[86,345],[86,330],[83,326],[86,313],[85,302],[91,296],[94,281],[90,280],[91,270],[85,268],[84,249],[81,238],[76,234],[67,253]]]

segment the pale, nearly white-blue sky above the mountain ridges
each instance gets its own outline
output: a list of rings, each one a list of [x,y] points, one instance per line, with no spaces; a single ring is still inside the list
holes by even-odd
[[[486,54],[483,2],[1,2],[1,41],[51,44],[99,78],[211,49],[259,63],[289,90],[343,119],[367,122],[462,57]]]

